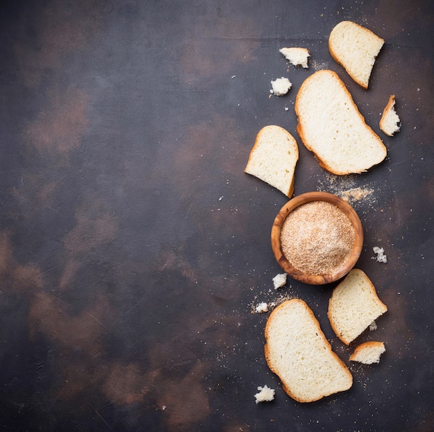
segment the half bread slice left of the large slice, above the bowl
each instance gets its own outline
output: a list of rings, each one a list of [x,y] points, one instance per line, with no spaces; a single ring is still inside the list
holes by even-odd
[[[298,160],[297,141],[280,126],[266,126],[257,135],[244,172],[279,189],[288,198],[294,192]]]

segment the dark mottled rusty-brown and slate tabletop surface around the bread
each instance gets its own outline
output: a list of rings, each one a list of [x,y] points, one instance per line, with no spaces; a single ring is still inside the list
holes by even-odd
[[[329,55],[342,19],[385,39],[367,91]],[[2,1],[0,429],[432,431],[433,28],[428,0]],[[310,49],[309,69],[281,46]],[[388,147],[363,175],[327,175],[295,132],[297,89],[327,68]],[[280,76],[293,88],[270,97]],[[333,286],[272,288],[287,199],[243,173],[268,124],[300,145],[296,195],[370,190],[357,266],[389,311],[357,342],[385,342],[379,365],[349,364]],[[299,404],[268,370],[252,309],[286,296],[315,312],[349,391]],[[264,384],[275,401],[257,405]]]

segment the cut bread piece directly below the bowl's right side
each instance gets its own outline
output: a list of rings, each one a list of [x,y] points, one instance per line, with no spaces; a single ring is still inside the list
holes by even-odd
[[[333,289],[327,315],[336,336],[349,345],[387,310],[363,270],[353,268]]]

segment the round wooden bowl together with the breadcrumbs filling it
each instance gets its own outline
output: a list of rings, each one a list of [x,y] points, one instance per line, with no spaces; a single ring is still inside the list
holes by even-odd
[[[363,227],[348,202],[326,192],[288,201],[271,230],[272,251],[293,279],[322,285],[347,275],[363,248]]]

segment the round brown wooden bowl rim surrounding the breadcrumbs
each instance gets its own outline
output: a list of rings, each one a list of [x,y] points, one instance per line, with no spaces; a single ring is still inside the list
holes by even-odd
[[[286,259],[284,252],[281,248],[281,228],[284,225],[284,221],[288,214],[291,211],[299,207],[300,205],[305,204],[306,202],[311,201],[326,201],[330,202],[333,205],[336,205],[338,209],[342,210],[351,221],[351,224],[354,227],[355,232],[355,241],[351,252],[347,259],[342,261],[336,269],[333,270],[332,273],[327,275],[309,275],[303,273],[300,270],[297,270],[289,261]],[[272,225],[271,229],[271,247],[272,252],[277,259],[277,262],[284,269],[285,273],[287,273],[293,279],[296,279],[300,282],[304,282],[305,284],[312,285],[322,285],[329,284],[330,282],[334,282],[341,277],[347,275],[349,270],[354,267],[363,248],[363,227],[361,220],[358,218],[356,211],[348,204],[348,202],[342,200],[336,195],[326,192],[308,192],[303,193],[300,196],[296,196],[292,200],[288,201],[284,207],[281,208],[279,213],[277,214],[275,221]]]

